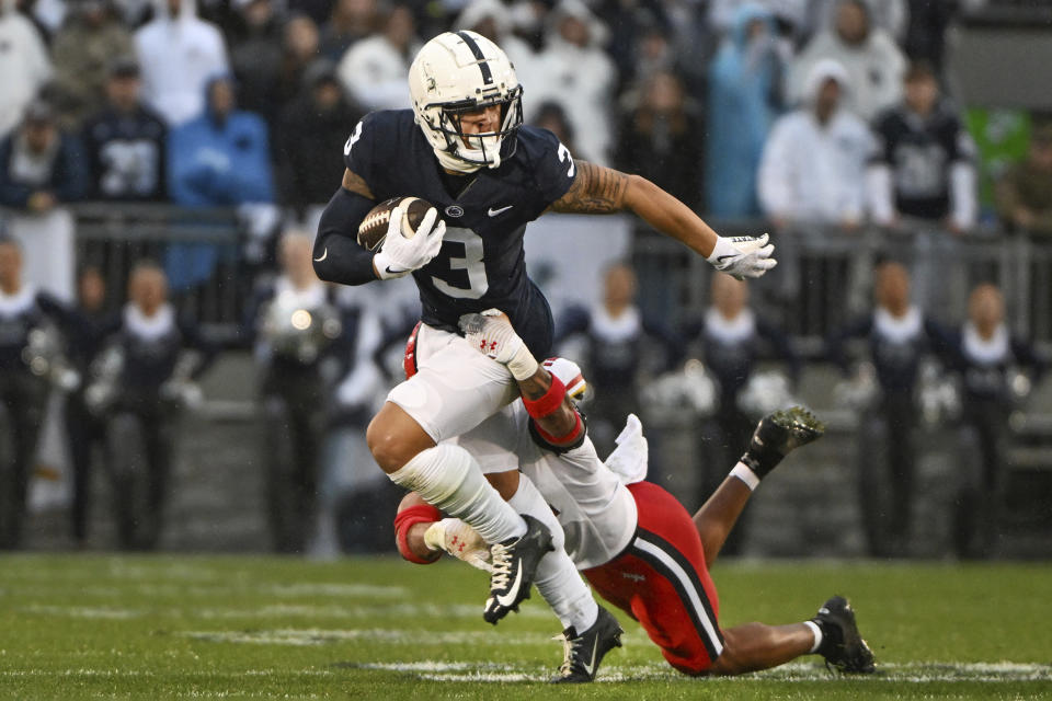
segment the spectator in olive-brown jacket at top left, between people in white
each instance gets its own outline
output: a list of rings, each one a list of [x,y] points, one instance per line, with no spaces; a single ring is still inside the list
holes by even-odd
[[[79,129],[83,119],[102,110],[110,62],[134,50],[132,33],[110,0],[70,3],[52,45],[54,89],[64,127]]]

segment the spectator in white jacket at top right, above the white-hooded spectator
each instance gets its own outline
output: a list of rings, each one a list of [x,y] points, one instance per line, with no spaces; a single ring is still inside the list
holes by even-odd
[[[906,59],[887,31],[874,26],[865,0],[841,0],[833,25],[804,47],[789,70],[790,100],[804,100],[808,76],[821,60],[834,59],[847,72],[845,106],[867,122],[902,99]]]

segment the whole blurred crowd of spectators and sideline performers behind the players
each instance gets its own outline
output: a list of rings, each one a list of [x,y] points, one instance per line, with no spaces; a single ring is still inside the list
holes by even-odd
[[[923,221],[953,233],[988,216],[1047,235],[1052,122],[1042,115],[1033,116],[1028,153],[998,171],[993,207],[980,205],[980,156],[949,94],[945,37],[967,7],[981,4],[0,0],[0,207],[42,218],[79,200],[168,203],[237,208],[251,222],[253,235],[236,255],[262,264],[263,274],[240,342],[260,364],[272,542],[299,552],[332,528],[334,495],[356,495],[352,510],[364,514],[387,485],[362,428],[382,398],[382,358],[391,348],[398,355],[408,317],[377,319],[359,291],[323,286],[310,269],[310,240],[339,186],[355,122],[410,106],[405,76],[423,41],[447,28],[494,39],[525,88],[528,123],[551,129],[576,158],[639,173],[705,216],[764,217],[775,231],[814,222],[910,230]],[[24,249],[34,245],[0,235],[0,407],[15,437],[0,446],[9,466],[0,548],[22,542],[54,386],[68,393],[76,541],[88,539],[92,466],[105,455],[99,464],[116,495],[118,542],[153,548],[179,417],[199,400],[195,380],[216,354],[170,295],[207,283],[228,252],[170,244],[161,260],[135,263],[126,292],[106,290],[113,280],[81,262],[70,302],[24,279]],[[976,288],[970,321],[953,330],[910,303],[901,268],[887,265],[876,279],[872,314],[827,338],[823,352],[847,371],[847,340],[862,337],[876,368],[880,391],[868,395],[874,418],[864,428],[882,438],[860,429],[860,440],[888,456],[860,450],[872,463],[861,474],[889,485],[894,506],[862,499],[871,552],[901,553],[907,538],[908,436],[919,358],[930,355],[968,397],[962,445],[975,446],[969,455],[977,462],[961,487],[959,552],[982,554],[988,543],[976,519],[993,518],[1000,489],[1009,370],[1039,375],[1043,364],[1005,330],[995,288]],[[590,417],[601,452],[627,412],[661,404],[667,390],[709,407],[699,451],[722,452],[707,463],[732,462],[764,398],[791,392],[799,376],[785,333],[754,314],[747,288],[725,276],[713,278],[704,318],[678,329],[643,317],[630,266],[611,267],[604,285],[602,304],[562,310],[557,330],[560,341],[585,344],[575,357],[597,397]],[[114,299],[127,303],[114,311]],[[62,346],[66,356],[56,350]],[[781,380],[753,371],[765,358],[786,364]],[[679,375],[651,383],[648,398],[643,378],[674,368]],[[660,441],[656,429],[652,436]],[[333,467],[351,462],[352,473]],[[721,475],[706,475],[699,494]],[[864,495],[872,489],[865,479]],[[315,521],[318,513],[329,520]],[[739,541],[745,531],[737,529]]]

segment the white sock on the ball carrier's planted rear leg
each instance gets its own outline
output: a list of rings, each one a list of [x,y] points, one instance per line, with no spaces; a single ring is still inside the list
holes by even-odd
[[[578,573],[576,566],[563,549],[565,535],[537,487],[525,474],[518,475],[518,490],[507,502],[519,514],[533,516],[551,531],[554,550],[540,559],[534,584],[540,596],[559,618],[563,629],[573,628],[579,635],[595,624],[599,607],[592,590]]]

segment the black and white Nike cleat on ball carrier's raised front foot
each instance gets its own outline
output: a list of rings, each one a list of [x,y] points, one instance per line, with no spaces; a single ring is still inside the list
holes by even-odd
[[[517,611],[518,605],[529,598],[537,564],[551,547],[551,531],[533,516],[523,516],[526,532],[515,540],[494,543],[490,547],[490,598],[485,600],[482,618],[487,623],[496,622]]]

